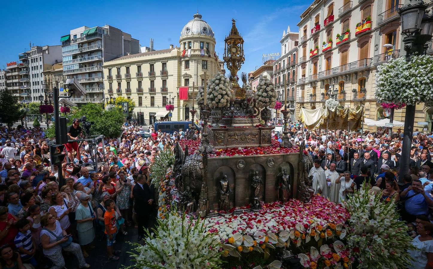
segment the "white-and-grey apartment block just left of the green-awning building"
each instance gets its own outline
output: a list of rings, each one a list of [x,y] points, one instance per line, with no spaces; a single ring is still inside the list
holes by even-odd
[[[42,71],[61,61],[61,46],[32,46],[19,54],[18,59],[23,66],[20,71],[22,89],[29,90],[30,102],[38,101],[39,95],[44,95]]]

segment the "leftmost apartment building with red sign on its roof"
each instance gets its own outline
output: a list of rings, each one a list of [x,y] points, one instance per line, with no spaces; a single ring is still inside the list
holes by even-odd
[[[6,87],[21,103],[31,102],[29,64],[11,61],[6,63]]]

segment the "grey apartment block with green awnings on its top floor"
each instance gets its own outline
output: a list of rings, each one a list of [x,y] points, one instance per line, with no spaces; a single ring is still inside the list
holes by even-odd
[[[103,63],[140,51],[139,40],[110,25],[72,29],[60,38],[63,74],[76,78],[87,93],[72,102],[103,102]]]

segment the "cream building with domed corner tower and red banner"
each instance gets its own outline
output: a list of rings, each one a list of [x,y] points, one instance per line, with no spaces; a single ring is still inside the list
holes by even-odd
[[[193,83],[194,96],[197,96],[198,88],[205,85],[204,73],[209,80],[223,68],[215,54],[215,43],[212,28],[200,14],[195,14],[181,31],[180,47],[170,45],[167,49],[106,61],[103,65],[107,74],[104,77],[106,101],[118,96],[133,99],[134,113],[143,115],[145,124],[152,124],[169,118],[165,105],[174,100],[171,120],[190,119]],[[187,99],[180,99],[180,88],[187,90]]]

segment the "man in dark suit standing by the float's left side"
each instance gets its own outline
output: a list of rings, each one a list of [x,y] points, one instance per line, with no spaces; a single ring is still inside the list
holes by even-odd
[[[137,214],[137,225],[138,225],[138,240],[143,239],[144,228],[148,227],[149,215],[152,212],[152,192],[149,189],[149,185],[146,183],[144,175],[140,174],[136,180],[137,184],[132,189],[132,195],[134,195],[135,201],[135,212]]]

